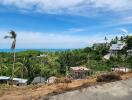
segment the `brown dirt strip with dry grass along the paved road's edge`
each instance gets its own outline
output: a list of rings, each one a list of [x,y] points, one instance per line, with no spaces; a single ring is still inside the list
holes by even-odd
[[[121,75],[122,79],[132,78],[132,72]],[[69,90],[88,87],[98,84],[96,77],[83,80],[74,80],[72,83],[59,83],[52,85],[29,85],[29,86],[0,86],[0,100],[38,100],[46,95],[53,95]]]

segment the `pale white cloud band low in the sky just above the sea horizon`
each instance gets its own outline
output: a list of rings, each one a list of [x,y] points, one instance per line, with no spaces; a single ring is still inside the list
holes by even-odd
[[[27,31],[17,31],[17,33],[17,48],[81,48],[93,43],[104,42],[104,36],[99,34],[75,36]],[[0,34],[0,48],[10,48],[12,41],[3,39],[5,35],[7,35],[6,32]],[[108,37],[111,38],[111,36]]]

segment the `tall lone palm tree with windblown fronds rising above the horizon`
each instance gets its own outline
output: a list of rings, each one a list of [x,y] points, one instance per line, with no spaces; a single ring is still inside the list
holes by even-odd
[[[9,32],[9,36],[5,36],[4,38],[7,39],[7,38],[10,38],[10,39],[13,39],[13,42],[12,42],[12,45],[11,45],[11,49],[13,50],[13,67],[12,67],[12,76],[11,78],[13,79],[14,77],[14,67],[15,67],[15,61],[16,61],[16,55],[15,55],[15,47],[16,47],[16,37],[17,37],[17,34],[15,31],[11,30]]]

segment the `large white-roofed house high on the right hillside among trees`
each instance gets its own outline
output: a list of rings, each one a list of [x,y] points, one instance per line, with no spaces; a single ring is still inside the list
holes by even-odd
[[[116,44],[112,44],[110,47],[110,55],[117,56],[125,48],[126,44],[124,42],[118,41]]]

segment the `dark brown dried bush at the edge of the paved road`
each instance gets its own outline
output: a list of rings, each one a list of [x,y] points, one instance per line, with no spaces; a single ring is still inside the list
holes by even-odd
[[[113,82],[117,80],[121,80],[121,76],[117,73],[102,74],[100,76],[97,76],[96,79],[97,82]]]

